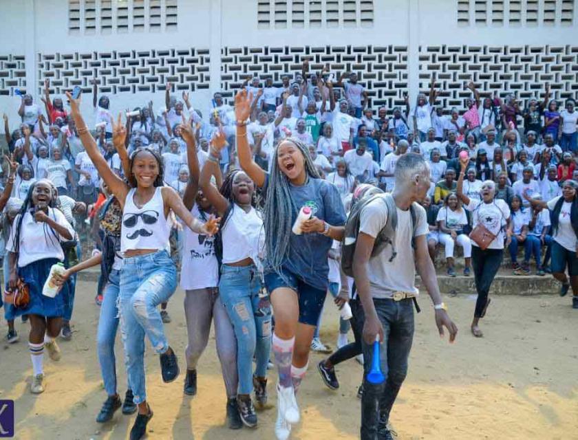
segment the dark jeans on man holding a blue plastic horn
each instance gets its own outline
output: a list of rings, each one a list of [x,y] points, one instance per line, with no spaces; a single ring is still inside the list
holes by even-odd
[[[379,363],[385,381],[372,384],[367,373],[372,369],[373,344],[361,341],[363,350],[363,397],[361,398],[361,439],[378,439],[378,431],[387,426],[389,412],[407,375],[407,358],[414,340],[414,302],[374,298],[377,316],[383,326],[384,341]],[[363,324],[361,325],[363,329]]]

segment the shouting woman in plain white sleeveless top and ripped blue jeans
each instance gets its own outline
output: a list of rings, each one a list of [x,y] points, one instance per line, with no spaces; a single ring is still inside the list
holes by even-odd
[[[225,144],[224,133],[217,132],[202,169],[200,186],[223,218],[220,297],[237,336],[237,408],[243,423],[253,428],[257,415],[250,394],[255,388],[257,404],[266,404],[271,349],[271,307],[261,281],[265,237],[263,219],[255,209],[255,184],[244,171],[228,173],[220,191],[211,184],[213,175],[220,176],[220,150]]]

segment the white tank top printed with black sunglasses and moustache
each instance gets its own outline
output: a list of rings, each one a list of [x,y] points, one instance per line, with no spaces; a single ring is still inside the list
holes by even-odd
[[[152,199],[138,208],[133,197],[136,189],[132,188],[125,199],[122,211],[122,228],[120,230],[120,252],[140,249],[167,249],[171,225],[164,217],[162,186],[158,186]]]

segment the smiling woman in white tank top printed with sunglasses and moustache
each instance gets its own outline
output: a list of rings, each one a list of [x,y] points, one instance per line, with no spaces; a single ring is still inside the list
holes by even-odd
[[[109,167],[87,129],[79,110],[80,98],[74,99],[69,93],[67,96],[85,151],[123,210],[120,323],[127,356],[127,375],[133,401],[138,404],[131,439],[140,439],[146,434],[147,423],[153,415],[147,404],[144,386],[145,335],[160,354],[162,380],[172,382],[179,374],[177,357],[164,336],[162,320],[156,308],[166,302],[177,287],[175,265],[166,250],[171,232],[167,217],[173,210],[191,230],[207,235],[217,232],[219,219],[211,217],[203,224],[186,210],[173,188],[162,186],[162,159],[149,148],[139,148],[131,156],[128,184],[120,179]],[[124,148],[127,136],[120,118],[119,114],[118,123],[113,128],[113,142],[117,149]]]

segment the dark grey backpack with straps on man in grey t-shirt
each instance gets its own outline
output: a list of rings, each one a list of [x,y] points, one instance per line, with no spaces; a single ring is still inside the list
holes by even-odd
[[[343,270],[343,273],[347,276],[353,276],[353,259],[357,245],[357,236],[359,234],[361,212],[368,203],[374,200],[383,202],[383,207],[387,209],[387,222],[378,236],[376,236],[372,257],[383,251],[387,245],[390,245],[392,246],[392,257],[389,261],[393,261],[394,258],[396,258],[395,243],[398,217],[394,197],[389,193],[367,195],[352,206],[349,217],[347,217],[347,223],[345,223],[345,233],[343,234],[343,241],[341,242],[341,270]],[[411,230],[413,231],[411,234],[411,243],[413,245],[413,236],[416,232],[416,208],[414,207],[414,203],[411,203],[411,206],[409,206],[409,213],[411,215]]]

